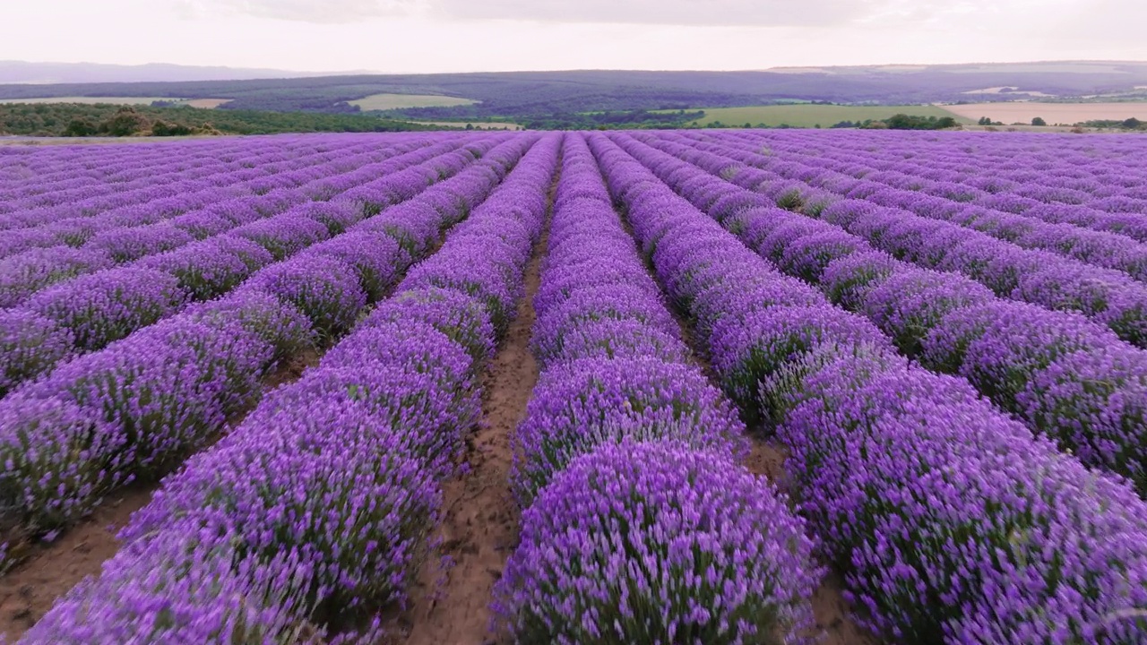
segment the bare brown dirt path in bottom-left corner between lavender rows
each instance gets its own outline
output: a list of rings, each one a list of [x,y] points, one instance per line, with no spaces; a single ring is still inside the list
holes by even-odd
[[[305,368],[318,363],[315,351],[302,352],[267,374],[263,390],[298,380]],[[236,426],[249,411],[233,415],[228,425]],[[0,576],[0,636],[8,642],[18,639],[52,608],[56,598],[85,577],[99,575],[103,562],[119,550],[116,534],[132,513],[151,500],[151,494],[158,488],[158,482],[148,482],[114,490],[89,518],[56,541],[31,546],[25,561]]]

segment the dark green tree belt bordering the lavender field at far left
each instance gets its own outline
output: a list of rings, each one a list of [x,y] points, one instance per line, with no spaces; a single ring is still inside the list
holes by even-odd
[[[0,134],[26,137],[178,137],[412,130],[438,129],[365,115],[205,110],[104,103],[0,103]]]

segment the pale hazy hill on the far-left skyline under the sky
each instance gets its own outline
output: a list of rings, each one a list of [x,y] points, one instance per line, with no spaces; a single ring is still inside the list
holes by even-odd
[[[197,80],[242,80],[249,78],[298,78],[329,76],[329,72],[299,72],[273,69],[173,65],[109,65],[100,63],[31,63],[0,61],[0,84],[30,83],[155,83]]]

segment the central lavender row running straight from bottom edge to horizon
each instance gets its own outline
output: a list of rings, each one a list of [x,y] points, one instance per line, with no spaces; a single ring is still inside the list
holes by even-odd
[[[794,642],[803,522],[736,461],[744,427],[688,362],[582,135],[567,138],[514,436],[522,542],[494,613],[518,643]]]

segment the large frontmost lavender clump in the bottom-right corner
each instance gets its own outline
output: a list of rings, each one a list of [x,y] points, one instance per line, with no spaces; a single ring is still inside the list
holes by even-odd
[[[811,370],[778,435],[868,624],[921,642],[1086,639],[1147,601],[1147,508],[1130,488],[957,379],[858,360]],[[1111,642],[1133,642],[1133,624]]]

